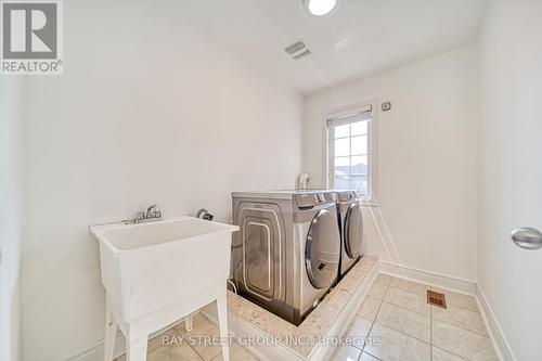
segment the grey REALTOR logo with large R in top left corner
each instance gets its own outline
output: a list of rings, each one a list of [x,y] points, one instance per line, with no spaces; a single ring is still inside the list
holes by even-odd
[[[62,74],[60,1],[2,1],[1,74]]]

